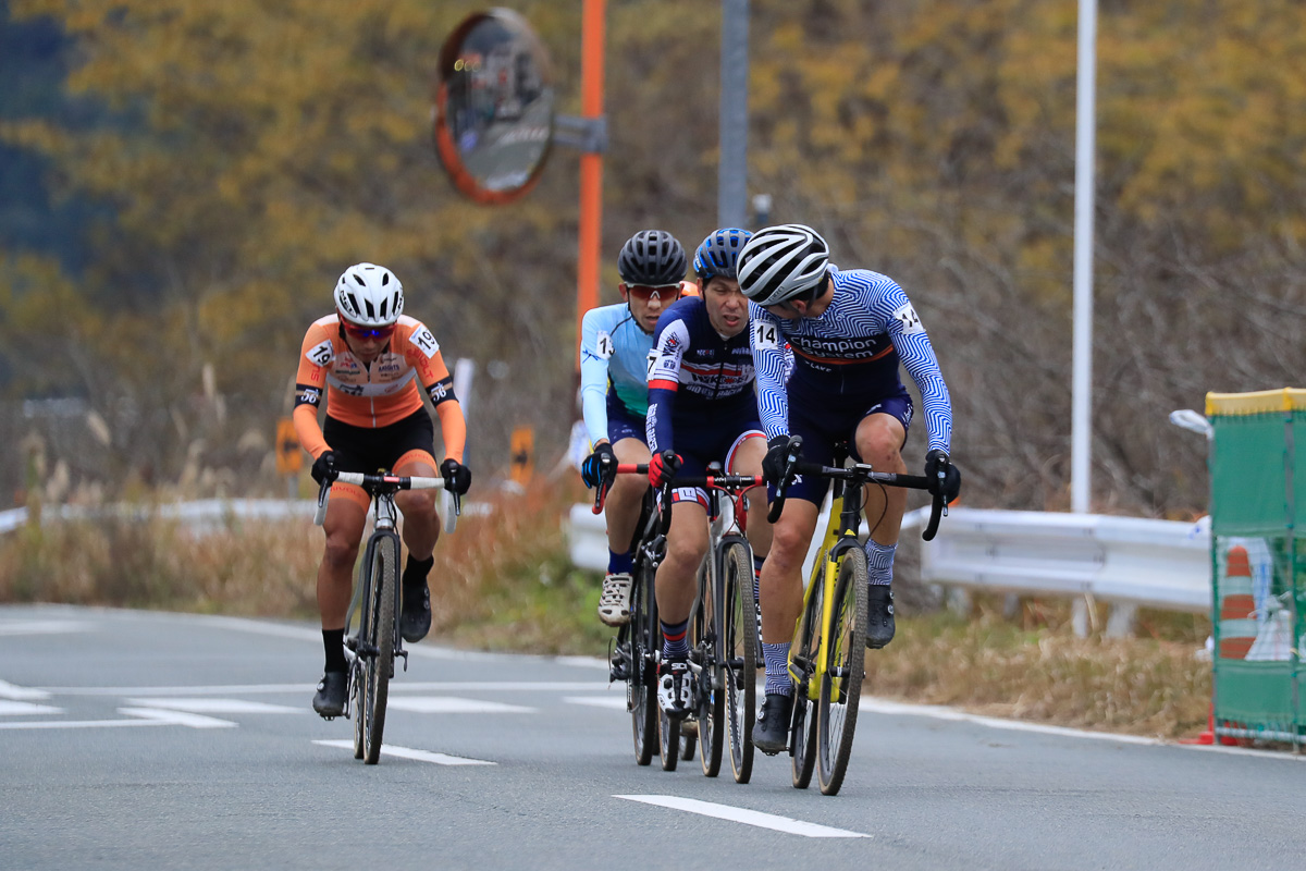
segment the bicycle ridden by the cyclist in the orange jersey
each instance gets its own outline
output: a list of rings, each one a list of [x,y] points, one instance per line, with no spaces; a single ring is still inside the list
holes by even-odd
[[[404,659],[407,671],[407,650],[400,636],[400,537],[396,531],[398,511],[394,494],[400,490],[441,490],[443,478],[404,478],[390,474],[362,474],[357,471],[332,473],[317,492],[319,526],[326,518],[326,494],[334,482],[362,487],[371,498],[375,511],[372,534],[363,551],[354,585],[354,599],[345,616],[345,648],[349,663],[349,692],[345,717],[354,721],[354,759],[375,765],[381,755],[381,735],[385,730],[385,703],[389,682],[394,676],[394,661]],[[444,529],[452,533],[462,511],[457,494],[444,491]],[[452,509],[451,509],[452,503]],[[350,633],[354,612],[360,611],[358,632]],[[358,716],[354,717],[353,714]]]

